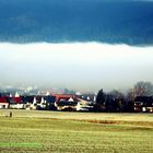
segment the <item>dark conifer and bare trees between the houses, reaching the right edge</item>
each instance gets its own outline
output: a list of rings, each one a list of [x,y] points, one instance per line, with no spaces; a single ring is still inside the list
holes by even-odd
[[[114,90],[105,93],[101,89],[96,96],[96,111],[134,111],[133,103],[138,96],[153,96],[153,84],[151,82],[140,81],[126,94]]]

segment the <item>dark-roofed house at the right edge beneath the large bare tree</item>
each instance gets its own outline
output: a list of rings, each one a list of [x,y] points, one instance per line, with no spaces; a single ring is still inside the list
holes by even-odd
[[[133,108],[134,111],[153,113],[153,96],[137,96]]]

